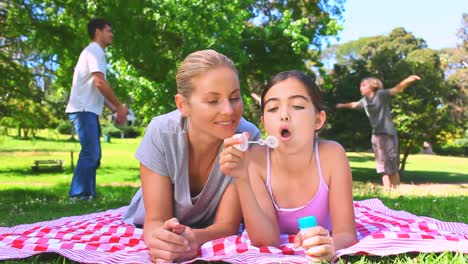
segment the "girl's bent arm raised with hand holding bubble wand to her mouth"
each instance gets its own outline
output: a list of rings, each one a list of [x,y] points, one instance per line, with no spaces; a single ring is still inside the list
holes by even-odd
[[[220,156],[221,170],[235,178],[244,222],[252,245],[279,246],[280,234],[273,204],[264,181],[254,169],[257,154],[262,152],[261,148],[244,153],[234,147],[239,143],[238,138],[224,140],[224,149]]]

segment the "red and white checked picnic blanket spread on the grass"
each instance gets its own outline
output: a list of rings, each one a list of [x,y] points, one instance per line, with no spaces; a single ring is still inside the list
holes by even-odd
[[[343,255],[394,255],[405,252],[468,253],[468,225],[442,222],[387,208],[378,199],[354,202],[358,242],[336,252]],[[122,222],[126,207],[58,220],[0,227],[0,260],[57,253],[82,263],[151,263],[142,229]],[[209,241],[195,260],[230,263],[304,263],[293,235],[281,246],[254,247],[248,233]]]

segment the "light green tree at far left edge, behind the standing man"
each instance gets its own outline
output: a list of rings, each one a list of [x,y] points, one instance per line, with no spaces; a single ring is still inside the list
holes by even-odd
[[[17,128],[19,136],[35,136],[38,128],[56,123],[44,93],[51,79],[41,52],[12,25],[10,5],[0,3],[0,124]]]

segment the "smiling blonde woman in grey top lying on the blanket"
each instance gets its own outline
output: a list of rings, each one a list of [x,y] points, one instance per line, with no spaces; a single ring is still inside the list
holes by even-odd
[[[182,261],[206,241],[236,234],[241,208],[232,178],[220,171],[223,140],[260,131],[241,118],[243,102],[233,62],[197,51],[177,72],[178,110],[153,118],[136,152],[142,188],[124,215],[144,225],[153,258]],[[144,200],[144,203],[143,203]]]

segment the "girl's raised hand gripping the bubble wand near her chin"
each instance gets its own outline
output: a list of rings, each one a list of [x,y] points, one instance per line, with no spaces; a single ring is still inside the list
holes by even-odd
[[[243,133],[249,138],[249,133]],[[226,138],[223,143],[223,151],[219,157],[221,171],[235,179],[247,179],[247,162],[245,152],[239,150],[235,145],[241,144],[242,139],[236,137]]]

